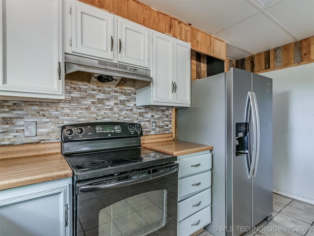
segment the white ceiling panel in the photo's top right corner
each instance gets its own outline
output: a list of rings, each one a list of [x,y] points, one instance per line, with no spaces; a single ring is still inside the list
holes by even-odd
[[[266,11],[298,40],[314,35],[314,0],[282,1]]]

